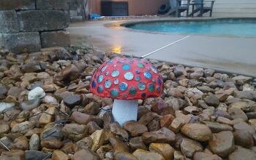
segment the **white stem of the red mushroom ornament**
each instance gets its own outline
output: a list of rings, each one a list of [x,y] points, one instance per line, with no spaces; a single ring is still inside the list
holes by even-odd
[[[112,115],[121,127],[126,121],[137,121],[138,100],[114,100]]]

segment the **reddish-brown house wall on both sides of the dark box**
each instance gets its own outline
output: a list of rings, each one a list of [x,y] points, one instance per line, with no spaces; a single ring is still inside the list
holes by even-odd
[[[89,7],[91,13],[101,14],[100,2],[109,0],[90,0]],[[111,0],[111,1],[128,1],[129,15],[157,15],[158,9],[162,4],[168,3],[169,0]]]

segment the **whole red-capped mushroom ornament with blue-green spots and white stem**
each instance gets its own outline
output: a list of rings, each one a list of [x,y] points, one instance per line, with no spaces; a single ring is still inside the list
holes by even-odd
[[[99,66],[90,85],[95,95],[114,99],[113,118],[123,126],[126,121],[137,121],[138,100],[159,97],[164,84],[148,60],[114,58]]]

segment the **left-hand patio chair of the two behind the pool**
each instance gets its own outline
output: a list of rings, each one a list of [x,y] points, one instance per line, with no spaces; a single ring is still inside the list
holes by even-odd
[[[165,15],[173,15],[180,17],[181,12],[187,11],[187,17],[189,17],[189,5],[190,0],[187,0],[187,4],[181,4],[181,0],[170,0],[170,10]]]

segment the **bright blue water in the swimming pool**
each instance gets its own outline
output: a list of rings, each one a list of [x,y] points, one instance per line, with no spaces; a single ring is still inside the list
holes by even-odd
[[[256,36],[256,20],[207,20],[182,22],[137,23],[128,28],[165,32],[199,33],[211,35]]]

